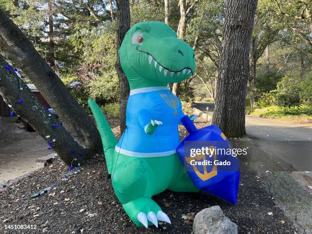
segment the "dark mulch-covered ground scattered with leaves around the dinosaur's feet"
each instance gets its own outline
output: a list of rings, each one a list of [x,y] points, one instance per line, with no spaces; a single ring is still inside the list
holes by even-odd
[[[197,127],[206,125],[197,122]],[[118,127],[113,126],[117,132]],[[181,129],[181,137],[186,135]],[[242,172],[238,204],[229,204],[204,192],[165,191],[153,199],[168,214],[172,225],[137,227],[126,216],[113,191],[104,159],[69,175],[68,167],[56,158],[53,164],[22,179],[0,194],[1,233],[191,233],[193,218],[206,207],[220,205],[224,214],[238,225],[239,233],[295,233],[293,222],[276,205],[256,172]],[[57,187],[39,198],[20,200],[56,183]],[[5,225],[36,225],[36,229],[12,230]],[[33,226],[34,227],[34,226]]]

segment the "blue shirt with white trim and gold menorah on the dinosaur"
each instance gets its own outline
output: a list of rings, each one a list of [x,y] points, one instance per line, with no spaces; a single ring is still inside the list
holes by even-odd
[[[168,87],[148,87],[130,92],[126,129],[115,150],[134,157],[162,157],[175,153],[179,144],[178,124],[184,113],[180,100]],[[152,135],[144,131],[151,120],[159,120]]]

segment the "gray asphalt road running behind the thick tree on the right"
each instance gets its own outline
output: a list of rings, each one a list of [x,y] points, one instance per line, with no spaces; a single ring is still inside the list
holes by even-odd
[[[214,102],[196,102],[195,107],[213,114]],[[312,127],[276,119],[246,115],[247,136],[270,157],[287,163],[292,171],[312,171]]]

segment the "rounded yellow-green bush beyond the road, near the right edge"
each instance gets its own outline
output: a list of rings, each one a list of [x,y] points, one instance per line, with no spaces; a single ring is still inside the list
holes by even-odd
[[[279,107],[295,107],[300,103],[300,73],[290,71],[277,83],[275,103]]]

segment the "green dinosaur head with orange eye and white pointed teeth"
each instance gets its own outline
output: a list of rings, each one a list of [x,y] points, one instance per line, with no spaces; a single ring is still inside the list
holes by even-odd
[[[195,70],[193,48],[163,22],[133,25],[118,54],[131,89],[180,82]]]

